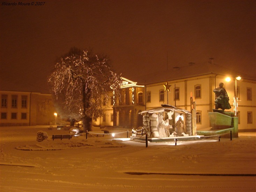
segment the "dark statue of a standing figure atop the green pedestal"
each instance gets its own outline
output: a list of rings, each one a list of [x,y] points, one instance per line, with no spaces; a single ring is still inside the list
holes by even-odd
[[[223,85],[224,83],[220,83],[218,88],[213,89],[213,92],[216,94],[215,109],[231,109],[231,106],[228,102],[229,97]]]

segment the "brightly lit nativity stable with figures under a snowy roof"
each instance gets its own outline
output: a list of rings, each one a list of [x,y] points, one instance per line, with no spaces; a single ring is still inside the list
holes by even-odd
[[[159,108],[142,111],[143,127],[132,130],[132,136],[152,138],[167,138],[175,136],[196,135],[192,127],[191,112],[172,105],[162,105]]]

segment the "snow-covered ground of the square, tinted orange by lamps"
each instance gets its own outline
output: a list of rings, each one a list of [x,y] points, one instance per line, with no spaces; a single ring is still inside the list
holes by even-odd
[[[49,139],[37,142],[39,130]],[[256,191],[256,133],[147,148],[112,141],[111,135],[50,139],[67,133],[46,126],[0,127],[0,191]]]

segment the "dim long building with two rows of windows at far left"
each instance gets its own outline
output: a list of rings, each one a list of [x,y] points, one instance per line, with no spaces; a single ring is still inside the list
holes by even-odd
[[[56,113],[51,94],[0,91],[0,126],[54,125]]]

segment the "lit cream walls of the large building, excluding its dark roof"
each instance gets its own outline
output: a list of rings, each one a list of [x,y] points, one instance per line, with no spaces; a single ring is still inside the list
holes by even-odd
[[[121,102],[117,101],[113,105],[114,102],[109,101],[104,109],[104,116],[94,121],[93,125],[137,128],[142,123],[139,112],[159,107],[161,104],[169,104],[190,111],[192,95],[196,102],[197,130],[209,128],[211,125],[208,112],[212,112],[215,107],[213,89],[219,87],[220,82],[224,83],[229,104],[232,107],[225,111],[234,112],[235,76],[231,77],[229,82],[225,81],[226,77],[227,75],[210,73],[149,83],[140,87],[121,87],[123,89]],[[164,91],[163,85],[166,82],[170,86],[170,91]],[[236,95],[240,100],[237,108],[239,132],[256,131],[256,80],[242,78],[236,84]],[[132,93],[134,102],[132,102]],[[112,93],[109,94],[113,97]]]

